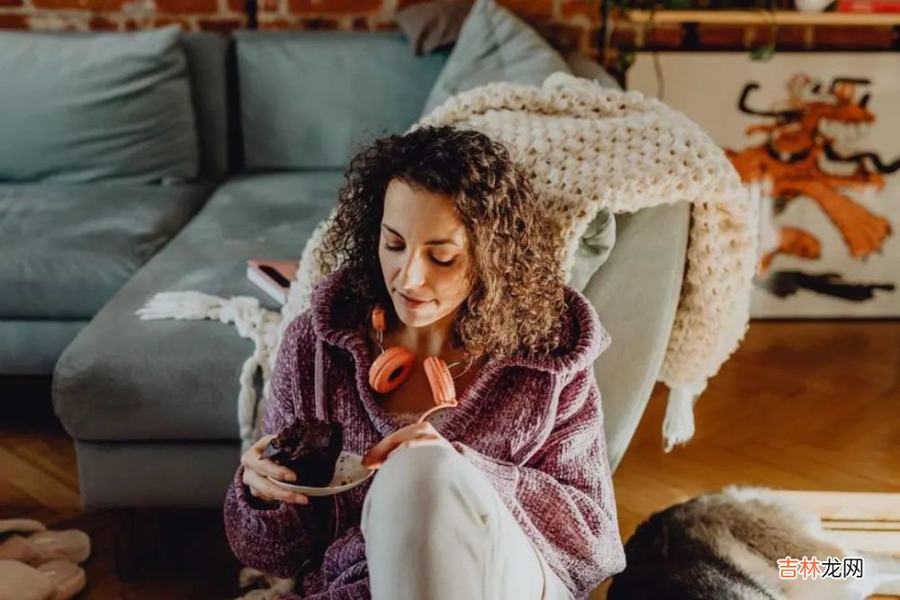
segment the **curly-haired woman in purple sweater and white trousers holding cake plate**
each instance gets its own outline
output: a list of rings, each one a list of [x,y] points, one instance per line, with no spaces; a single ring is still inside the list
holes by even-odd
[[[625,567],[593,372],[608,336],[564,285],[527,176],[481,133],[442,127],[376,141],[347,180],[329,275],[284,334],[266,436],[226,497],[232,549],[297,577],[291,598],[587,597]],[[392,346],[416,367],[378,393],[368,373]],[[429,356],[458,406],[416,424],[435,406]],[[266,479],[293,479],[261,453],[313,416],[343,425],[374,478],[313,498]]]

